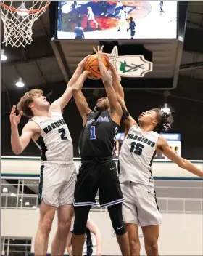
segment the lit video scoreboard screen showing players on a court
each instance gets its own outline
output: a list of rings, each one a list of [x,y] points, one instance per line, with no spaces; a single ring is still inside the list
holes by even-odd
[[[177,1],[58,1],[58,39],[176,39]]]

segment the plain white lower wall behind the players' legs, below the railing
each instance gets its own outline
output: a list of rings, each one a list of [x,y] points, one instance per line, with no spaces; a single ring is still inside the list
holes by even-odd
[[[34,237],[38,227],[37,210],[1,209],[1,236]],[[107,212],[91,212],[91,218],[102,233],[102,255],[120,255],[116,238],[112,236],[112,227]],[[203,219],[202,215],[163,214],[159,236],[159,255],[203,255]],[[49,239],[51,241],[57,229],[54,220]],[[141,238],[141,255],[144,252],[144,240]],[[32,249],[33,252],[33,244]]]

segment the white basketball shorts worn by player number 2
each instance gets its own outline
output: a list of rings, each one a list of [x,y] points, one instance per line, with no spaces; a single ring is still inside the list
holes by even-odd
[[[59,207],[72,204],[77,172],[75,165],[41,165],[40,183],[38,187],[38,204],[43,200],[46,204]]]

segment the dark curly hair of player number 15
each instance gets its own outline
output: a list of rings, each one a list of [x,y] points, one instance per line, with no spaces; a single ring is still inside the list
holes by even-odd
[[[171,112],[164,112],[160,108],[152,108],[152,111],[157,113],[158,124],[154,128],[154,132],[168,132],[173,124],[173,116]]]

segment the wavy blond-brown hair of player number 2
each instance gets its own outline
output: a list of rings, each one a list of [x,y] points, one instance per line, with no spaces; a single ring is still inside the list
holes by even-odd
[[[30,103],[33,102],[33,98],[36,95],[43,95],[43,91],[41,89],[31,89],[26,92],[17,103],[17,110],[22,111],[24,116],[33,117],[33,111],[29,107]]]

